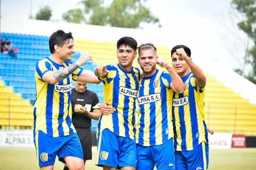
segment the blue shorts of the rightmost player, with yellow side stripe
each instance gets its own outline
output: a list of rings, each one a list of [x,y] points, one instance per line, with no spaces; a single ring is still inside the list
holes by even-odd
[[[209,147],[202,142],[194,150],[175,150],[176,170],[207,170],[209,164]]]

